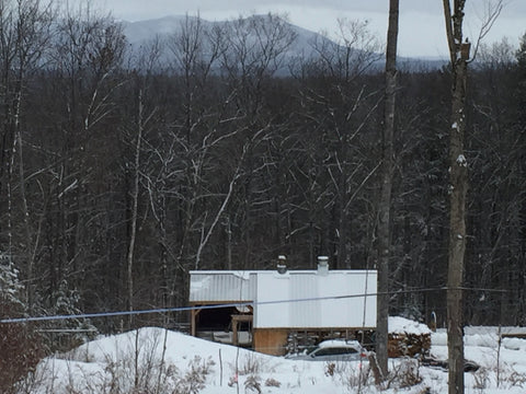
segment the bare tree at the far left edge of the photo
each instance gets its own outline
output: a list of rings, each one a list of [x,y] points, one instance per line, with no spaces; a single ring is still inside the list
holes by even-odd
[[[49,49],[52,7],[38,0],[0,1],[0,97],[3,103],[2,162],[0,190],[7,186],[9,250],[13,245],[13,189],[19,190],[23,233],[20,244],[23,251],[21,268],[27,279],[26,302],[33,304],[34,265],[41,236],[42,221],[33,215],[27,202],[27,175],[24,169],[24,118],[23,108],[27,97],[28,82],[42,67],[42,58]],[[18,154],[16,154],[18,153]],[[18,164],[19,182],[14,170]],[[11,256],[11,251],[9,252]]]

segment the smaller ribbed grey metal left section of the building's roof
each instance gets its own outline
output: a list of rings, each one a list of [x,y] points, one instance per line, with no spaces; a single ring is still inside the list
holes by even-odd
[[[192,271],[190,302],[253,301],[255,275],[251,271]]]

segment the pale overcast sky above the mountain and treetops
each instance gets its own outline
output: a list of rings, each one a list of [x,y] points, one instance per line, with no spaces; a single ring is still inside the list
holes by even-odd
[[[77,2],[80,0],[69,0]],[[465,36],[474,40],[489,0],[468,0]],[[493,0],[495,1],[495,0]],[[506,36],[517,45],[526,33],[526,0],[504,0],[506,5],[485,42]],[[114,16],[126,21],[167,15],[195,15],[205,20],[226,20],[253,13],[277,12],[296,25],[332,34],[336,20],[367,20],[371,32],[385,40],[389,0],[94,0]],[[400,1],[400,56],[447,56],[441,0]]]

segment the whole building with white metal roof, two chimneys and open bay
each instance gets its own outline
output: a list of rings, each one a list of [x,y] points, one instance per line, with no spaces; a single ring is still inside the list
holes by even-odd
[[[190,275],[192,335],[235,345],[251,337],[256,351],[283,355],[294,333],[355,338],[376,328],[376,270],[330,270],[322,257],[317,270]]]

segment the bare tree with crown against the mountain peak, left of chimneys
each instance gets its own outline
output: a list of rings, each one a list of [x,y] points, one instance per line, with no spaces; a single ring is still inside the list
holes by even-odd
[[[229,22],[225,30],[227,50],[221,58],[222,77],[231,92],[231,109],[237,117],[236,127],[239,137],[247,146],[244,153],[240,187],[232,200],[231,209],[239,209],[243,213],[240,220],[230,220],[230,229],[238,231],[243,237],[244,266],[255,267],[261,262],[263,253],[255,253],[262,245],[254,242],[251,222],[260,215],[263,207],[268,207],[271,201],[262,193],[264,187],[259,179],[268,169],[270,162],[260,155],[263,144],[248,143],[258,130],[261,140],[272,139],[275,121],[273,114],[267,112],[265,90],[271,80],[279,70],[284,69],[286,54],[296,39],[295,32],[288,23],[278,15],[268,14],[237,19]],[[244,152],[244,151],[243,151]],[[237,163],[229,163],[235,171]],[[276,223],[276,221],[274,221]]]

